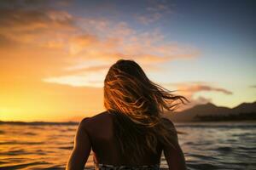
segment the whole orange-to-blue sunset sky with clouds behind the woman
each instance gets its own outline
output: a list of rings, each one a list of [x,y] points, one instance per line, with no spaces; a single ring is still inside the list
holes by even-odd
[[[117,59],[188,106],[256,100],[255,1],[0,2],[0,120],[68,121],[103,108]]]

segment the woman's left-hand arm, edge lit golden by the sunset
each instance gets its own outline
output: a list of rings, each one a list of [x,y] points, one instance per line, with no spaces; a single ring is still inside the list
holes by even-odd
[[[84,169],[84,165],[90,155],[91,143],[88,133],[85,130],[86,122],[89,117],[84,118],[79,123],[79,127],[74,139],[74,148],[69,161],[67,162],[66,170]]]

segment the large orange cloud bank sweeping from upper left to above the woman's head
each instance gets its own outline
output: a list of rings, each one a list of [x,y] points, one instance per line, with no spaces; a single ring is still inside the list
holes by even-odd
[[[1,7],[0,66],[9,72],[4,77],[93,86],[103,81],[96,75],[105,75],[117,59],[134,59],[147,71],[160,71],[157,65],[200,54],[195,47],[167,41],[159,29],[137,31],[123,20],[73,16],[49,3],[25,4]],[[167,7],[157,4],[147,10],[155,13]],[[91,61],[96,64],[86,65]]]

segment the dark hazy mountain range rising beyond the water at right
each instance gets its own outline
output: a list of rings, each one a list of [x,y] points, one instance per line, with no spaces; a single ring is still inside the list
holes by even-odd
[[[252,117],[253,115],[253,117]],[[256,102],[242,103],[234,108],[222,107],[207,103],[195,105],[194,107],[180,111],[168,116],[173,122],[195,122],[195,121],[221,121],[254,118],[256,116]]]

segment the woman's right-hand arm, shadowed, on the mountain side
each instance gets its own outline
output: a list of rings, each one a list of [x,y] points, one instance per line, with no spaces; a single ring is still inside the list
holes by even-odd
[[[166,161],[168,163],[169,169],[172,170],[185,170],[186,163],[183,155],[183,150],[181,150],[180,145],[177,140],[177,131],[173,125],[173,123],[166,119],[166,123],[175,130],[174,140],[172,142],[173,145],[164,146],[164,155],[166,157]]]

